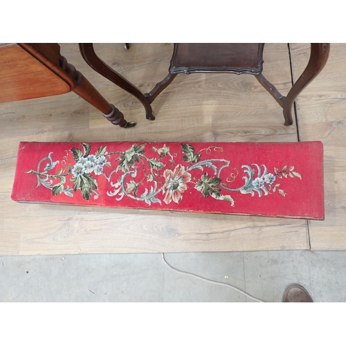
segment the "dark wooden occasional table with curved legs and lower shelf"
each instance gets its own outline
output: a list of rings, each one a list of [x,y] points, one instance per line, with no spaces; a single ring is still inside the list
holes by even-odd
[[[151,104],[174,80],[178,73],[248,73],[273,96],[283,108],[284,124],[292,125],[292,106],[301,91],[322,71],[329,55],[330,44],[311,44],[307,67],[293,84],[289,93],[282,95],[271,82],[264,78],[264,44],[174,44],[168,75],[158,82],[149,93],[143,93],[96,55],[93,44],[80,44],[82,57],[92,69],[134,95],[145,108],[146,118],[154,120]]]

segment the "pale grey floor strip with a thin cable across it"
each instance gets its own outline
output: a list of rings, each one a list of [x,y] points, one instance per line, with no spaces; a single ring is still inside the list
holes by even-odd
[[[291,283],[315,302],[346,302],[345,251],[167,253],[174,268],[281,302]],[[253,302],[175,273],[161,254],[1,256],[0,302]]]

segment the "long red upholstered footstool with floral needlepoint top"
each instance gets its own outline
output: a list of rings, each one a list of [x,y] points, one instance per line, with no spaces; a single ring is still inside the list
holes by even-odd
[[[324,219],[323,147],[21,142],[12,199]]]

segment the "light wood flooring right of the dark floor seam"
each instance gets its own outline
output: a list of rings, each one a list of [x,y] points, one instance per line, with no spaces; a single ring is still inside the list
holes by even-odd
[[[293,44],[296,77],[309,58],[309,44]],[[309,221],[313,250],[346,249],[346,44],[331,44],[320,75],[298,98],[301,140],[321,140],[325,149],[325,221]]]

